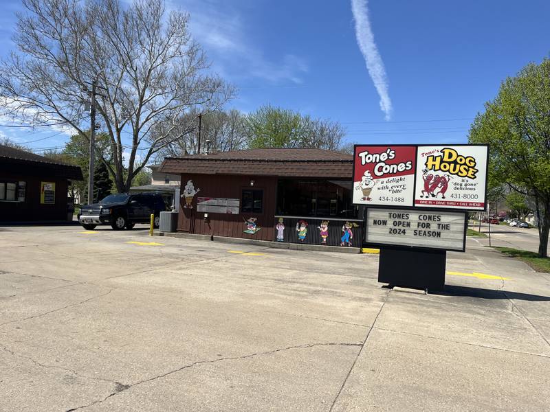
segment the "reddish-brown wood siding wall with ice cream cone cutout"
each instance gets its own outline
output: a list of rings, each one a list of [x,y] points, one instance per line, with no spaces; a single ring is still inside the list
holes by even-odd
[[[250,186],[251,179],[254,180],[254,187]],[[177,223],[179,231],[230,238],[274,240],[273,219],[276,207],[276,177],[182,174],[181,193],[184,192],[184,187],[189,180],[193,181],[195,190],[200,189],[200,192],[195,195],[192,201],[192,209],[184,208],[185,199],[179,199],[180,209]],[[235,198],[242,203],[243,189],[263,190],[263,213],[243,214],[242,211],[238,215],[209,213],[210,222],[207,223],[204,222],[204,214],[197,212],[198,197]],[[261,227],[253,235],[243,233],[246,229],[245,220],[250,217],[257,218],[256,225]]]

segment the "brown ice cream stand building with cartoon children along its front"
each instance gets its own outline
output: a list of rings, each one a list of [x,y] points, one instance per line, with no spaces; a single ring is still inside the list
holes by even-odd
[[[164,159],[181,175],[177,230],[359,247],[353,156],[313,148],[251,149]]]

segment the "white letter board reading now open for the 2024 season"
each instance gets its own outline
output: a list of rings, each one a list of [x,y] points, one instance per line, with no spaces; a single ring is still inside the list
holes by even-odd
[[[465,212],[369,208],[365,242],[464,251],[465,222]]]

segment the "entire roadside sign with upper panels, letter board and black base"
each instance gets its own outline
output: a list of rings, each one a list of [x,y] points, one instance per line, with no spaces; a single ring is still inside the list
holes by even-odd
[[[467,211],[485,210],[487,145],[357,145],[353,203],[366,209],[378,282],[442,290],[447,251],[465,251]]]

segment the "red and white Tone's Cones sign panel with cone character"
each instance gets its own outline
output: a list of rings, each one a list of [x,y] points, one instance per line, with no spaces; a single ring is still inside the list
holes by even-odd
[[[416,146],[355,146],[353,203],[412,206]]]

